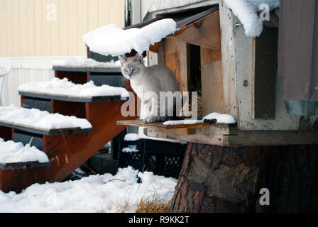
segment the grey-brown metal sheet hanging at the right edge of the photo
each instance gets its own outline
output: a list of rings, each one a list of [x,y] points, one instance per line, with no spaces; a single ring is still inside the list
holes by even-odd
[[[318,101],[318,4],[315,0],[282,0],[280,64],[283,98]]]

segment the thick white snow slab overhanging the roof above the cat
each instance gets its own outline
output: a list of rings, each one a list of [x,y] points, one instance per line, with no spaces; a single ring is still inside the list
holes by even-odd
[[[89,50],[101,55],[123,55],[131,50],[139,54],[149,50],[149,46],[159,42],[167,35],[177,31],[177,23],[172,19],[163,19],[150,23],[143,28],[121,29],[111,23],[97,28],[83,36]]]

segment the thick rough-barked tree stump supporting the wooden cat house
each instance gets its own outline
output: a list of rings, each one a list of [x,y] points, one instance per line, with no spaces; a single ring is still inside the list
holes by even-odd
[[[318,211],[318,145],[228,148],[190,143],[171,212]],[[261,205],[260,190],[270,192]]]

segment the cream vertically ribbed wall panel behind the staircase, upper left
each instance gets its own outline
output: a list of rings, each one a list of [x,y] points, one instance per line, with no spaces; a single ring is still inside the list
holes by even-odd
[[[124,0],[0,0],[0,56],[85,55],[82,35],[124,27]]]

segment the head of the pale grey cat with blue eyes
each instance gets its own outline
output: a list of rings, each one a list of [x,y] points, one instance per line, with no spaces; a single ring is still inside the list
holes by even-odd
[[[121,72],[127,79],[136,79],[138,74],[143,72],[143,57],[136,55],[135,57],[119,56],[121,62]]]

